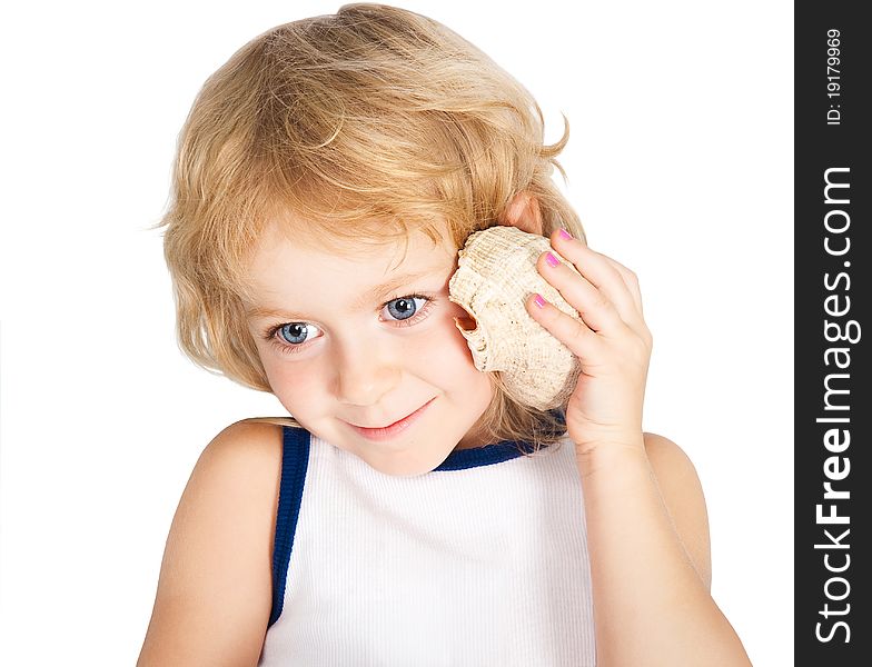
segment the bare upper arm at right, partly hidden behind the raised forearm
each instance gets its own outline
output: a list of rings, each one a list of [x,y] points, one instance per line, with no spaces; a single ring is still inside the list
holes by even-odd
[[[700,578],[706,588],[711,588],[708,514],[696,468],[681,447],[668,438],[646,432],[644,439],[645,454],[675,531]]]

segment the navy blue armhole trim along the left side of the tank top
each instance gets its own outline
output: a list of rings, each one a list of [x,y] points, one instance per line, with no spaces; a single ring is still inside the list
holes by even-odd
[[[303,486],[309,467],[309,431],[288,426],[283,426],[281,429],[281,482],[276,515],[276,541],[272,549],[272,610],[267,627],[278,620],[285,605],[290,550],[294,547]]]

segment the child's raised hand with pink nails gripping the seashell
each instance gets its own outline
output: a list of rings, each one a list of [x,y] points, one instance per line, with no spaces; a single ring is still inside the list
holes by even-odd
[[[537,305],[536,295],[527,299],[526,307],[533,319],[581,360],[578,382],[566,408],[569,437],[578,452],[605,442],[642,446],[652,336],[642,317],[636,276],[584,241],[566,238],[562,230],[552,233],[551,245],[581,276],[563,263],[551,266],[547,252],[536,268],[578,311],[581,320],[551,303]]]

